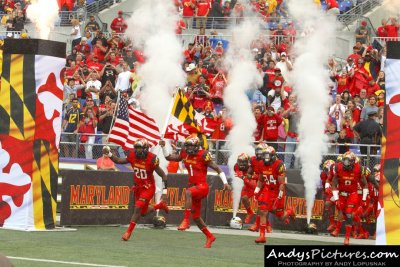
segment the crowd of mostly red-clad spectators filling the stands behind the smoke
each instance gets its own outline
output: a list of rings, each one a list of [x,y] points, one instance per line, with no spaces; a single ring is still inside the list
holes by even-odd
[[[64,2],[65,5],[76,6],[80,1]],[[329,9],[335,1],[315,2]],[[251,45],[255,64],[263,75],[262,86],[248,91],[257,121],[254,138],[255,141],[269,142],[278,151],[294,152],[296,145],[291,142],[298,141],[299,111],[290,72],[294,60],[292,45],[295,37],[301,34],[298,33],[301,29],[286,19],[285,1],[253,0],[251,4],[273,30],[268,38],[260,36]],[[209,26],[207,18],[238,18],[243,15],[244,5],[235,0],[176,0],[176,7],[182,15],[177,24],[178,35],[185,33],[187,28],[199,29],[199,34],[183,51],[182,68],[187,73],[186,96],[197,112],[216,122],[216,130],[208,137],[224,140],[233,125],[223,100],[229,76],[222,61],[229,41],[220,38],[215,29],[206,34]],[[14,9],[19,10],[15,6]],[[92,145],[106,142],[105,137],[115,116],[118,93],[135,99],[134,104],[138,103],[136,99],[140,98],[140,88],[135,69],[145,62],[145,58],[124,35],[127,23],[123,11],[119,11],[109,23],[111,35],[108,38],[95,17],[87,17],[84,22],[79,18],[71,21],[72,51],[66,58],[64,72],[62,126],[65,133],[83,134],[80,141],[86,143],[85,157],[91,159]],[[199,17],[206,19],[199,20]],[[398,30],[397,20],[390,18],[382,21],[377,32],[382,37],[398,37]],[[347,62],[340,63],[331,58],[326,64],[331,78],[328,90],[332,95],[326,125],[331,153],[342,153],[350,149],[351,144],[363,139],[365,133],[356,130],[360,122],[373,117],[378,124],[383,123],[385,73],[382,59],[386,52],[384,43],[380,46],[373,43],[371,36],[372,30],[362,21],[355,31],[356,42]],[[103,138],[85,135],[94,133],[103,134]],[[370,143],[379,144],[378,137]],[[64,138],[64,141],[74,142],[76,136],[65,135]],[[281,146],[285,141],[288,143]],[[280,142],[279,146],[277,142]],[[67,146],[64,155],[74,155],[73,148]],[[286,166],[294,163],[293,155],[288,154],[285,157]]]

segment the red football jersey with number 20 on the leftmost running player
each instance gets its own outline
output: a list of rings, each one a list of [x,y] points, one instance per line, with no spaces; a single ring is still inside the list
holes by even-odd
[[[155,183],[153,172],[159,165],[159,160],[156,155],[148,152],[146,158],[139,159],[136,157],[134,150],[132,150],[127,160],[132,165],[136,185]]]

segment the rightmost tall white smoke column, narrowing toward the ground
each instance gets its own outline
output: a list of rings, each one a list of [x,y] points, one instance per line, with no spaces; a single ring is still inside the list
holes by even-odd
[[[291,0],[289,12],[301,22],[305,33],[294,45],[296,59],[291,75],[300,109],[297,156],[302,165],[309,223],[320,179],[319,165],[327,151],[324,130],[330,97],[325,65],[333,51],[336,25],[335,18],[323,14],[311,0]]]

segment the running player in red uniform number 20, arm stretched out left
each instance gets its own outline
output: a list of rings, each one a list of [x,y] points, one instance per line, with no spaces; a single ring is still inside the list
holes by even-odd
[[[135,186],[132,191],[135,196],[135,209],[128,230],[122,235],[122,240],[128,241],[140,216],[145,216],[157,209],[162,209],[168,213],[169,209],[164,201],[167,197],[167,175],[160,168],[157,156],[149,152],[149,143],[146,139],[136,140],[134,149],[127,158],[114,156],[108,146],[103,147],[103,154],[108,154],[110,159],[118,164],[129,162],[134,171]],[[149,205],[156,191],[153,172],[156,172],[163,180],[162,200],[154,206]]]

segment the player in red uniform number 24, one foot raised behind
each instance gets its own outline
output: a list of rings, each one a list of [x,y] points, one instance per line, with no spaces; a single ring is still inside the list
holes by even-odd
[[[293,209],[284,210],[286,169],[283,162],[276,157],[275,149],[272,146],[268,146],[264,150],[264,161],[260,164],[260,174],[254,194],[258,200],[260,213],[260,237],[255,242],[265,243],[265,229],[269,212],[285,223],[289,223],[289,217],[295,217]]]

